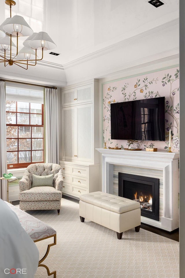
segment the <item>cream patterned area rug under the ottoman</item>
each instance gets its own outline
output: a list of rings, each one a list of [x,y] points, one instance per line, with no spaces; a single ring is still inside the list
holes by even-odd
[[[57,270],[57,278],[179,277],[179,242],[172,239],[131,229],[119,240],[108,228],[86,219],[80,222],[79,204],[63,198],[60,215],[57,211],[27,212],[57,231],[57,244],[44,261],[50,272]],[[42,257],[46,240],[36,244]],[[46,269],[39,267],[35,278],[45,277]]]

